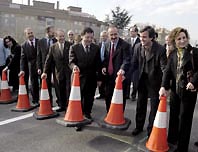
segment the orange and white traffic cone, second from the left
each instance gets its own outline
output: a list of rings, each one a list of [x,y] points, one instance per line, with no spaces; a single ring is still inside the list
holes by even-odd
[[[31,106],[29,97],[27,94],[26,86],[25,86],[25,81],[24,81],[24,76],[20,76],[19,78],[19,94],[18,94],[18,101],[16,108],[11,109],[11,111],[16,111],[16,112],[27,112],[30,111],[37,106]]]

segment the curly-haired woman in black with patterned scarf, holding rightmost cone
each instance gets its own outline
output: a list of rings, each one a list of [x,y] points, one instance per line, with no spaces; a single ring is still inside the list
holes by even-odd
[[[189,44],[184,28],[173,29],[170,39],[175,49],[169,55],[159,94],[166,96],[171,89],[168,142],[177,144],[175,152],[187,152],[197,99],[198,49]]]

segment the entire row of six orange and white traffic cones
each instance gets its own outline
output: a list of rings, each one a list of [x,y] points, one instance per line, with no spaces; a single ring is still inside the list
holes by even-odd
[[[11,100],[11,94],[7,84],[6,73],[2,73],[1,83],[1,96],[0,102],[5,100]],[[6,101],[8,102],[8,101]],[[33,109],[30,105],[29,98],[27,95],[24,77],[20,77],[19,95],[16,108],[13,111],[29,111]],[[47,90],[46,80],[42,80],[41,96],[40,96],[40,107],[39,111],[34,113],[36,119],[47,119],[58,116],[52,110],[49,93]],[[91,121],[85,119],[82,113],[81,95],[80,95],[80,80],[79,72],[74,72],[74,78],[71,87],[71,93],[69,97],[69,105],[64,118],[57,119],[57,123],[67,127],[81,127],[86,124],[90,124]],[[118,75],[116,79],[116,85],[110,105],[109,112],[105,117],[104,121],[101,122],[102,127],[111,129],[128,129],[131,121],[124,118],[123,112],[123,92],[122,92],[122,75]],[[151,135],[146,143],[146,147],[150,151],[154,152],[165,152],[168,151],[167,143],[167,112],[166,112],[166,97],[161,97],[156,118],[153,124]]]

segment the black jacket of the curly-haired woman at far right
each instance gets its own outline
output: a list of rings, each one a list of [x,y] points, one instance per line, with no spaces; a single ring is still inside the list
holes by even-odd
[[[192,61],[192,56],[193,56],[193,61]],[[194,67],[192,65],[192,62],[194,63],[193,64]],[[194,75],[192,77],[191,82],[197,88],[198,87],[198,49],[197,48],[188,45],[188,48],[184,51],[182,69],[183,70],[182,70],[181,81],[178,83],[178,85],[181,88],[186,89],[186,85],[188,83],[187,72],[193,71]],[[171,90],[176,91],[176,76],[177,76],[177,50],[174,50],[168,58],[167,67],[163,75],[162,86],[165,87],[165,89],[169,89],[170,80],[172,80]]]

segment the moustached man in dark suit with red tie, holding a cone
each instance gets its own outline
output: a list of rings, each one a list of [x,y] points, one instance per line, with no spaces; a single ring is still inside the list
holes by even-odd
[[[130,44],[119,38],[118,29],[110,26],[108,29],[110,42],[106,44],[105,60],[102,73],[106,76],[105,82],[105,101],[106,110],[109,111],[115,80],[120,73],[124,77],[127,75],[130,65]],[[126,104],[126,79],[123,80],[123,108]]]

